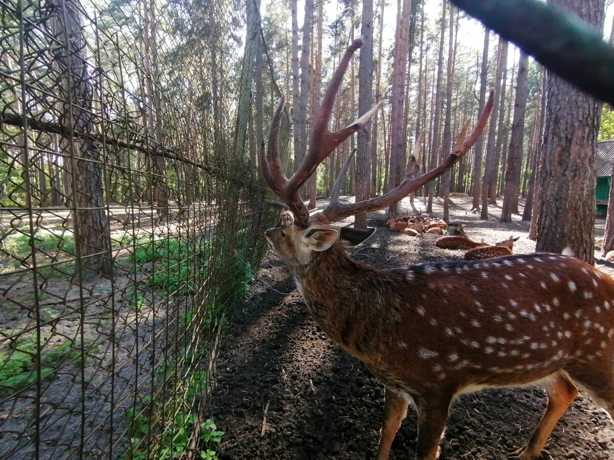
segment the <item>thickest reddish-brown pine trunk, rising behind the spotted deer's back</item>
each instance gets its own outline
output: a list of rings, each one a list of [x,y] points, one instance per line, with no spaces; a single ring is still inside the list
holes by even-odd
[[[604,0],[551,0],[601,29]],[[594,98],[547,72],[548,98],[540,174],[537,250],[560,253],[569,247],[594,261],[595,155],[599,104]]]

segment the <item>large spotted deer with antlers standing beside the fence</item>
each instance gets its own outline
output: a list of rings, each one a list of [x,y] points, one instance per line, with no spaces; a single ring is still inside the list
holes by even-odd
[[[260,166],[285,202],[281,226],[266,240],[290,267],[307,309],[333,342],[360,359],[386,388],[378,459],[389,456],[408,404],[418,415],[418,459],[436,459],[451,403],[482,388],[545,387],[548,406],[526,445],[514,455],[535,459],[578,394],[614,414],[614,282],[570,256],[507,255],[485,261],[422,263],[378,269],[344,247],[375,229],[339,227],[335,219],[387,207],[443,174],[480,136],[491,99],[476,128],[467,124],[450,155],[419,174],[411,156],[403,182],[384,196],[353,204],[332,200],[309,215],[298,189],[317,165],[378,109],[339,132],[328,121],[355,40],[332,77],[314,120],[309,153],[290,179],[278,153],[285,101],[276,113]],[[427,299],[438,296],[434,304]]]

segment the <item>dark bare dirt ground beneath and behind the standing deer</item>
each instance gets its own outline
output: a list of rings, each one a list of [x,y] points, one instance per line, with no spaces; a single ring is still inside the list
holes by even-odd
[[[518,215],[512,223],[499,223],[500,208],[492,206],[491,218],[481,221],[470,213],[468,199],[453,201],[451,219],[464,222],[472,239],[494,243],[513,234],[520,236],[516,253],[534,251],[535,243],[527,239],[529,226]],[[440,205],[433,215],[441,215]],[[418,200],[416,206],[421,206]],[[384,268],[463,257],[464,251],[435,247],[436,235],[408,237],[389,231],[385,221],[384,213],[370,215],[370,225],[378,231],[351,251],[355,258]],[[597,221],[597,236],[603,224]],[[614,275],[602,261],[597,267]],[[221,458],[373,458],[383,386],[327,339],[272,251],[252,294],[235,311],[217,363],[213,417],[225,431]],[[545,404],[545,392],[538,387],[461,396],[451,408],[440,458],[505,458],[529,439]],[[416,415],[410,409],[391,458],[414,458],[416,435]],[[614,423],[581,395],[555,427],[542,458],[614,459]]]

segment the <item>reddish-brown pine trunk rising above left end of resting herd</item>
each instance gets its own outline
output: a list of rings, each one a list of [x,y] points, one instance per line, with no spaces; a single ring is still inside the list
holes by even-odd
[[[395,36],[395,53],[392,63],[392,104],[391,104],[391,159],[388,190],[396,188],[402,175],[402,158],[405,155],[406,139],[403,136],[403,104],[405,102],[405,72],[407,67],[407,47],[410,29],[411,0],[397,0],[397,31]],[[396,213],[398,202],[390,206],[390,212]]]

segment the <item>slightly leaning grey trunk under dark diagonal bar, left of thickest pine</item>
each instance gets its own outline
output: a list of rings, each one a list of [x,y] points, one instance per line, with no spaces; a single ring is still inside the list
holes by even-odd
[[[516,100],[514,102],[514,119],[511,125],[510,148],[508,149],[507,167],[505,170],[505,190],[503,191],[503,209],[501,220],[511,221],[514,205],[518,209],[518,193],[520,188],[520,167],[524,139],[524,115],[527,107],[527,76],[529,56],[520,53],[518,60],[518,76],[516,77]]]

